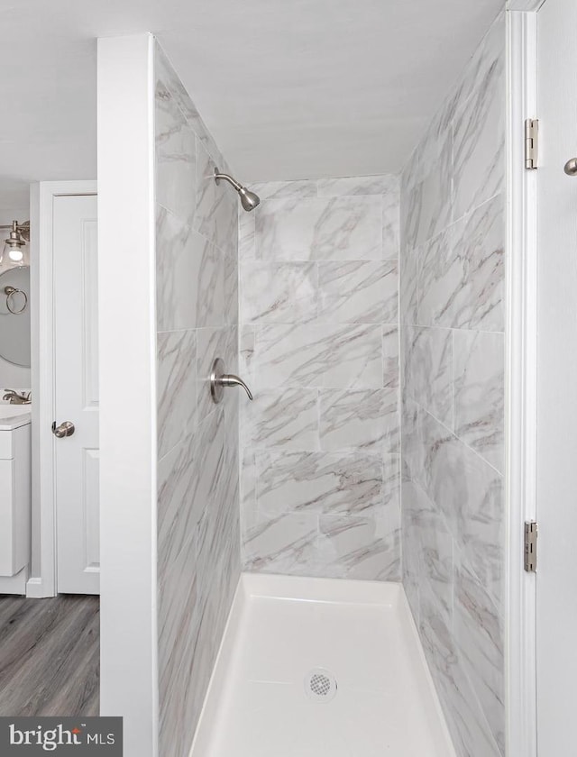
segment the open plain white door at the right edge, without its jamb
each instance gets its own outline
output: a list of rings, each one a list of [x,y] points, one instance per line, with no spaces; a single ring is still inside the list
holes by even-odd
[[[577,754],[577,2],[537,14],[537,749]]]

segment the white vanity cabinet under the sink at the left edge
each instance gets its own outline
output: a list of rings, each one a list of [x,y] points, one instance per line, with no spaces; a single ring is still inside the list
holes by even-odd
[[[30,561],[32,468],[30,410],[0,413],[0,577]],[[2,417],[4,415],[5,417]]]

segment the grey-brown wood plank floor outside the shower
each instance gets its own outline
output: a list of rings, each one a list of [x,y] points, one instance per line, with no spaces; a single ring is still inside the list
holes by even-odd
[[[0,716],[98,715],[99,605],[0,597]]]

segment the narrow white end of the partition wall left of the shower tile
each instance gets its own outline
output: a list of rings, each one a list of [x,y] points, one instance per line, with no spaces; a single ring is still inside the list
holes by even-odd
[[[98,41],[100,714],[125,757],[158,752],[152,44]]]

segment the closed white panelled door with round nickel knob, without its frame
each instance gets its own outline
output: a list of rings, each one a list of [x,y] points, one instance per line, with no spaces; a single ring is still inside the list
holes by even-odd
[[[59,593],[99,590],[96,195],[53,206],[55,418]]]

